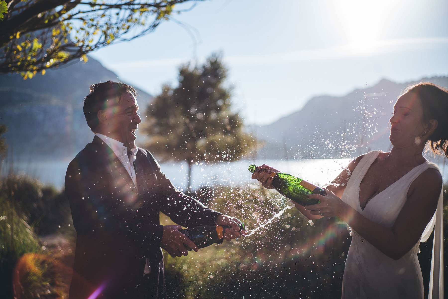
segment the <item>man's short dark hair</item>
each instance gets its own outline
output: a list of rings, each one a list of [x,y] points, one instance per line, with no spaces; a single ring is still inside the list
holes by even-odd
[[[134,87],[122,82],[103,82],[90,85],[90,94],[84,98],[84,116],[90,130],[95,133],[99,124],[98,111],[106,108],[107,100],[114,100],[115,104],[120,104],[121,94],[129,92],[137,96]]]

